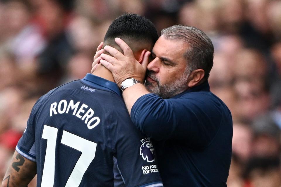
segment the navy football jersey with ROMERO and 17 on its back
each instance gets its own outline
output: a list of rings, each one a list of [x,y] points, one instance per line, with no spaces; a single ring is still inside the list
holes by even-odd
[[[114,186],[114,168],[127,187],[163,186],[117,85],[91,74],[35,103],[16,150],[37,162],[37,186]]]

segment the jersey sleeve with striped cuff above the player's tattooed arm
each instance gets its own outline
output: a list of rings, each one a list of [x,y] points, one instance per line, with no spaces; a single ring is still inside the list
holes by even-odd
[[[35,152],[35,114],[37,112],[37,103],[33,106],[29,119],[27,121],[27,126],[23,132],[23,136],[18,141],[16,150],[23,157],[36,162],[36,152]]]

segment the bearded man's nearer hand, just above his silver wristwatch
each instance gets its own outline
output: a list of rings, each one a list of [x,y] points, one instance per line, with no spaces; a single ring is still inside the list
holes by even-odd
[[[121,83],[128,78],[134,78],[143,83],[150,52],[146,51],[142,53],[143,60],[140,64],[135,59],[131,48],[122,39],[116,38],[115,42],[123,50],[124,55],[113,47],[104,46],[104,50],[112,56],[101,54],[100,57],[102,59],[100,63],[112,72],[114,80],[119,88],[121,87]]]

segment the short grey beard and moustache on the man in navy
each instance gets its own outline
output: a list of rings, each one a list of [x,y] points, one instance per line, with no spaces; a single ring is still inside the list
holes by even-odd
[[[145,87],[150,91],[151,93],[155,93],[162,97],[163,99],[171,98],[179,93],[184,92],[188,89],[188,78],[189,74],[184,73],[179,79],[175,80],[174,82],[171,82],[169,84],[161,85],[157,77],[153,74],[153,72],[147,72],[147,75],[154,79],[157,83],[157,86],[154,84],[151,84],[148,81],[145,81]]]

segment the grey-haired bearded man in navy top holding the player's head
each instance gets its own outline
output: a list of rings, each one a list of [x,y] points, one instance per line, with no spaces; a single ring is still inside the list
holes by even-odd
[[[141,65],[119,38],[124,54],[105,46],[112,56],[98,60],[121,87],[136,127],[156,140],[164,186],[227,186],[232,117],[210,92],[213,44],[196,27],[174,25],[161,34]]]

